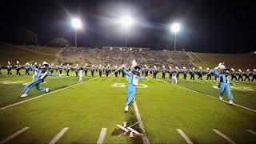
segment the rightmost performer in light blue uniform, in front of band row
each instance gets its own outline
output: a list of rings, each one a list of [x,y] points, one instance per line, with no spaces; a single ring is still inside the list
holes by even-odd
[[[221,70],[220,73],[218,73],[218,69]],[[234,83],[229,80],[228,75],[230,74],[230,70],[225,68],[224,65],[219,65],[214,68],[214,75],[216,75],[220,79],[220,99],[223,99],[224,93],[226,92],[229,98],[230,105],[233,105],[233,95],[230,90],[230,84]]]

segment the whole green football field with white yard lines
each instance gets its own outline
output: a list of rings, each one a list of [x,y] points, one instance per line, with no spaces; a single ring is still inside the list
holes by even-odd
[[[232,91],[238,105],[230,106],[218,100],[215,81],[187,79],[174,86],[158,74],[139,82],[138,111],[132,105],[124,113],[126,78],[96,74],[78,83],[70,75],[47,77],[42,86],[50,93],[33,88],[28,98],[18,96],[31,77],[0,77],[0,143],[143,143],[114,133],[123,122],[138,122],[136,114],[150,143],[256,142],[255,82],[238,82]]]

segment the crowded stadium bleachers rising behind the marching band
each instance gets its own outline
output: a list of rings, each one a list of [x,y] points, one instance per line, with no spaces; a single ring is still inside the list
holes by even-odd
[[[58,53],[58,62],[78,63],[84,65],[122,65],[136,59],[139,65],[147,66],[193,66],[191,58],[185,51],[148,50],[148,51],[123,51],[123,50],[102,50],[98,48],[63,48]]]

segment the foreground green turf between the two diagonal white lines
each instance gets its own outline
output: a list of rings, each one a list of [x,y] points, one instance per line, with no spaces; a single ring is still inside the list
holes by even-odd
[[[70,130],[58,143],[95,143],[103,127],[108,129],[105,143],[142,143],[140,138],[110,135],[117,128],[115,125],[122,121],[136,122],[132,107],[128,114],[123,113],[126,87],[111,86],[114,83],[126,84],[126,79],[113,77],[84,82],[0,110],[0,140],[30,126],[10,143],[46,143],[68,126]],[[61,84],[62,81],[58,82]],[[138,88],[136,96],[151,143],[185,143],[176,131],[178,128],[195,143],[226,143],[212,129],[220,130],[238,143],[255,142],[255,136],[246,131],[256,130],[254,112],[152,78],[140,83],[149,86]]]

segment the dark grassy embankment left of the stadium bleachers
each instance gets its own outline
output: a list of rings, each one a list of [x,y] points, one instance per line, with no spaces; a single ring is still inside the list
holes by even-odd
[[[0,65],[2,66],[6,66],[8,61],[14,66],[16,65],[17,60],[21,65],[30,61],[42,63],[43,61],[52,62],[54,60],[54,57],[37,54],[27,50],[20,50],[12,45],[5,44],[0,44],[0,54]]]

